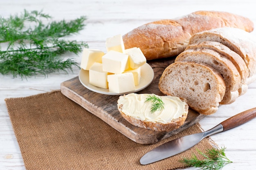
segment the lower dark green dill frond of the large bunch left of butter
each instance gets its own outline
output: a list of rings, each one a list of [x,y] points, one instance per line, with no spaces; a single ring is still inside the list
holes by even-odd
[[[67,51],[78,53],[81,46],[85,44],[53,40],[52,46],[43,48],[20,47],[18,50],[0,51],[1,58],[5,59],[4,62],[0,62],[0,73],[3,75],[11,73],[13,77],[48,75],[56,71],[67,73],[67,70],[72,71],[73,66],[79,67],[79,65],[71,58],[63,60],[61,55]]]

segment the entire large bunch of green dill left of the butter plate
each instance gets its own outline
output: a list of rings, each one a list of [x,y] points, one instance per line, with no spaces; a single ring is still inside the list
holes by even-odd
[[[64,71],[79,65],[72,59],[64,60],[61,55],[66,52],[78,54],[88,48],[85,42],[67,41],[64,36],[78,33],[85,24],[85,16],[69,22],[49,22],[52,17],[42,11],[24,10],[20,15],[0,16],[0,73],[12,74],[13,77],[30,77],[33,75]]]

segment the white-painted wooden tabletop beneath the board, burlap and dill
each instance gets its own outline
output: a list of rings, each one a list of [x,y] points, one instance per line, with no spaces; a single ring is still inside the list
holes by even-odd
[[[147,22],[172,19],[198,10],[215,10],[236,13],[250,18],[256,24],[256,1],[254,0],[0,0],[0,15],[8,17],[23,9],[42,10],[54,20],[72,20],[87,16],[87,26],[80,34],[69,40],[86,41],[90,48],[106,51],[105,40],[116,34],[125,34]],[[256,31],[252,32],[256,35]],[[74,57],[81,61],[81,55]],[[24,170],[20,149],[14,135],[4,102],[9,97],[25,97],[60,88],[61,82],[77,76],[73,73],[52,73],[27,79],[0,75],[0,170]],[[249,85],[247,93],[233,104],[221,106],[217,113],[200,121],[208,130],[221,121],[256,107],[256,82]],[[237,128],[212,135],[218,146],[226,147],[230,163],[223,170],[256,169],[256,119]],[[193,168],[187,168],[193,169]]]

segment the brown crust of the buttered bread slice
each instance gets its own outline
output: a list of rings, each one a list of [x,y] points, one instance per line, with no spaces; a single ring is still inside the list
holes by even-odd
[[[125,96],[125,95],[124,95]],[[120,96],[122,97],[122,96]],[[186,99],[184,98],[180,98],[183,102],[186,102]],[[185,105],[185,111],[186,113],[182,114],[181,117],[178,117],[177,119],[173,119],[171,122],[168,122],[166,124],[161,123],[161,122],[152,122],[152,121],[142,121],[139,119],[136,119],[134,117],[131,117],[129,115],[126,115],[124,112],[122,112],[122,104],[119,104],[117,106],[119,112],[121,113],[122,117],[124,117],[124,119],[126,119],[126,121],[128,121],[130,124],[134,125],[134,126],[138,126],[140,128],[146,128],[146,129],[151,129],[151,130],[155,130],[155,131],[166,131],[166,132],[170,132],[173,131],[177,128],[179,128],[180,126],[182,126],[186,120],[186,117],[188,115],[188,111],[189,111],[189,106],[186,104]]]

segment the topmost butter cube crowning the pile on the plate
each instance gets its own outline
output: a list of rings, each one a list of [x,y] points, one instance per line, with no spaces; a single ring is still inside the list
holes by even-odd
[[[118,51],[124,53],[124,41],[122,35],[115,35],[113,37],[107,38],[106,40],[107,51]]]

